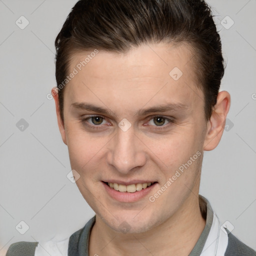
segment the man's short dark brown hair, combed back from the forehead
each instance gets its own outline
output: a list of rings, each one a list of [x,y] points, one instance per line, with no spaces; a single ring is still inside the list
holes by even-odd
[[[204,93],[205,119],[216,104],[224,74],[220,36],[203,0],[79,0],[55,39],[55,76],[63,118],[63,89],[76,51],[126,52],[142,43],[185,42],[194,52],[195,74]]]

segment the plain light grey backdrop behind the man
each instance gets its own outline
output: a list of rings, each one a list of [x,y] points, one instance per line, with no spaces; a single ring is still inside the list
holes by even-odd
[[[54,39],[75,2],[0,0],[0,255],[16,241],[65,238],[94,214],[66,177],[67,147],[46,97],[55,86]],[[221,90],[231,94],[231,107],[219,145],[204,152],[200,194],[256,249],[256,0],[208,2],[227,61]],[[24,29],[15,24],[21,15],[29,21]],[[228,29],[221,25],[231,24],[227,15],[234,21]],[[23,131],[21,118],[28,123]],[[15,229],[21,220],[29,226],[24,234]]]

